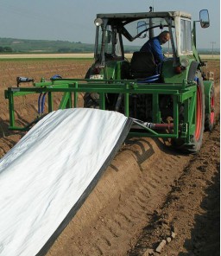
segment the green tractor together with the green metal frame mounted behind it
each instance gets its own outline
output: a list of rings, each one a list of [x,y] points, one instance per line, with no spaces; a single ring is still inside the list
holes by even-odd
[[[204,130],[212,131],[214,125],[214,86],[196,49],[196,22],[209,27],[208,11],[199,12],[193,28],[191,15],[182,11],[98,14],[94,63],[85,79],[54,77],[34,83],[34,88],[9,88],[9,128],[27,130],[37,121],[23,128],[15,125],[14,96],[47,93],[51,112],[52,93],[64,93],[61,109],[77,107],[78,93],[85,93],[84,107],[133,118],[129,136],[170,139],[182,151],[198,152]],[[156,65],[153,54],[137,45],[163,30],[170,41],[162,49],[165,60]]]

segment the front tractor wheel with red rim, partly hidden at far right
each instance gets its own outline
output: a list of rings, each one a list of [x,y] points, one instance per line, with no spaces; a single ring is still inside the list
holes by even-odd
[[[205,113],[205,131],[212,131],[215,124],[215,93],[212,85],[209,92],[209,112]]]

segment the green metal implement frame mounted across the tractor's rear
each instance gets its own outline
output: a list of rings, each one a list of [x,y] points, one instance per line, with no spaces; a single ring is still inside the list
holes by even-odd
[[[148,126],[140,125],[141,131],[130,131],[129,135],[155,138],[184,138],[186,143],[190,142],[191,135],[195,131],[196,123],[196,91],[195,83],[183,81],[182,84],[159,84],[147,83],[139,84],[137,80],[77,80],[59,79],[35,83],[34,87],[9,87],[5,90],[5,98],[9,99],[9,129],[18,131],[28,131],[32,125],[39,121],[39,116],[26,126],[17,126],[15,120],[14,99],[18,96],[31,93],[47,93],[48,112],[54,111],[53,93],[63,93],[59,109],[78,107],[78,93],[99,93],[99,108],[105,109],[105,93],[123,93],[124,95],[124,115],[129,116],[129,94],[147,93],[152,94],[153,123],[161,124],[161,112],[159,107],[159,95],[167,94],[173,97],[174,110],[173,126],[164,125],[170,130],[155,131]],[[184,106],[184,123],[179,123],[179,106]],[[153,126],[153,125],[152,125]]]

